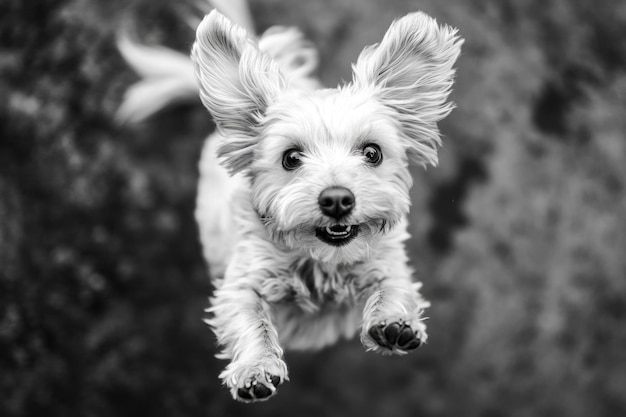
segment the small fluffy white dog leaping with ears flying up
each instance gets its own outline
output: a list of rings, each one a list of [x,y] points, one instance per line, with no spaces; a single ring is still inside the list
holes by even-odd
[[[267,43],[273,33],[292,42]],[[198,26],[191,57],[220,134],[203,151],[196,214],[216,287],[207,322],[235,399],[276,392],[283,349],[359,329],[383,354],[426,341],[428,303],[404,249],[408,166],[437,164],[461,44],[409,14],[361,53],[350,83],[317,89],[299,33],[257,41],[217,11]]]

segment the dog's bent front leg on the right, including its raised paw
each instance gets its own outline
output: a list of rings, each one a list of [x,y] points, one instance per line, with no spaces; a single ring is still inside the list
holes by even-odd
[[[367,350],[402,355],[427,339],[423,311],[428,307],[421,284],[409,278],[385,278],[378,282],[363,309],[361,342]]]

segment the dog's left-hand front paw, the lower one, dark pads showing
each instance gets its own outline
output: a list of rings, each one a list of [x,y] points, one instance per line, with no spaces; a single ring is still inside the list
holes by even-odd
[[[251,403],[272,397],[288,380],[287,366],[280,360],[233,362],[220,375],[235,400]]]

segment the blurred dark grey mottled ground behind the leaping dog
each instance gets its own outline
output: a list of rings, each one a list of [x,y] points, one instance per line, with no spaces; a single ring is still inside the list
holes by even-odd
[[[626,415],[626,2],[250,4],[329,86],[407,12],[466,39],[440,166],[414,170],[428,345],[288,353],[275,398],[231,400],[193,219],[211,120],[113,122],[138,79],[116,33],[188,51],[189,7],[0,0],[0,415]]]

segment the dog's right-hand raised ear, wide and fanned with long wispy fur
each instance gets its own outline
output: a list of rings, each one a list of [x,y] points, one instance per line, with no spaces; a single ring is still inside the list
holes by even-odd
[[[352,67],[354,87],[373,88],[393,109],[407,154],[424,166],[438,162],[437,122],[454,108],[447,99],[462,44],[456,29],[411,13],[393,22],[380,44],[364,49]]]

